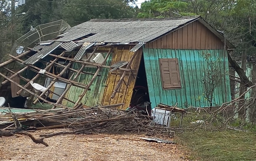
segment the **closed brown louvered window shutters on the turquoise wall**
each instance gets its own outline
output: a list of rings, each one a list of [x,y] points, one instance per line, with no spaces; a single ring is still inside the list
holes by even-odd
[[[164,89],[180,88],[180,71],[177,58],[160,59],[161,79]]]

